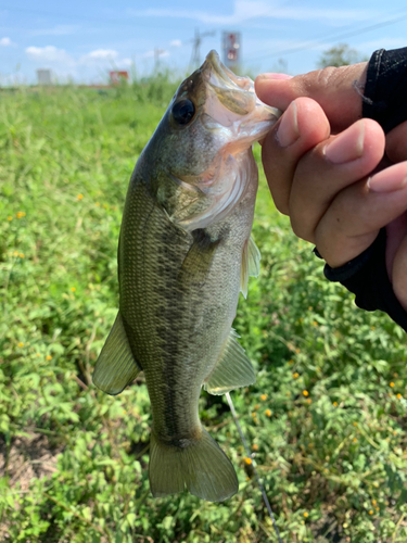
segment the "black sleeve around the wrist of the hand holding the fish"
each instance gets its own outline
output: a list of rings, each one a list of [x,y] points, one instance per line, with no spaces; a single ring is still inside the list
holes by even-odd
[[[407,121],[407,48],[376,51],[368,65],[363,116],[377,121],[385,132]],[[326,264],[325,275],[356,294],[367,311],[380,310],[407,331],[407,313],[396,299],[385,266],[385,228],[359,256],[339,268]],[[319,256],[318,251],[316,254]]]

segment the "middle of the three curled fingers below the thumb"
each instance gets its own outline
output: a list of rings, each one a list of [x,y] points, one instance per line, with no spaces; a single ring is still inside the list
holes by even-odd
[[[383,152],[382,128],[365,118],[307,153],[296,168],[290,194],[294,232],[315,243],[317,225],[336,194],[376,168]]]

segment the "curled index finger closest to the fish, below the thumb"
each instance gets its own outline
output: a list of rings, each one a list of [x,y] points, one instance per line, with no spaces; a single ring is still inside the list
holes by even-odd
[[[321,108],[309,98],[298,98],[266,136],[262,160],[277,209],[289,214],[291,184],[301,157],[329,136]]]

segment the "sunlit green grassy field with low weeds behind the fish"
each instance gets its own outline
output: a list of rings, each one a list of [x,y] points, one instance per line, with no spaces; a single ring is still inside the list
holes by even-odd
[[[116,397],[91,384],[128,179],[173,92],[0,96],[1,541],[277,541],[225,397],[203,392],[201,416],[239,493],[153,500],[143,379]],[[260,185],[262,274],[236,321],[257,381],[232,397],[282,538],[405,542],[406,336],[323,279]]]

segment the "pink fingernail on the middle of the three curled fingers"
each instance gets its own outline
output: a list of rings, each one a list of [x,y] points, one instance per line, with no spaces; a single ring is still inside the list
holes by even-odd
[[[328,143],[323,152],[333,164],[345,164],[346,162],[360,159],[364,153],[365,123],[355,123],[345,131]]]

